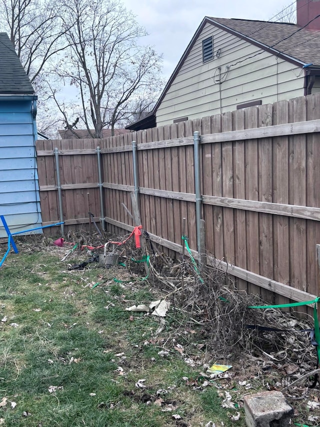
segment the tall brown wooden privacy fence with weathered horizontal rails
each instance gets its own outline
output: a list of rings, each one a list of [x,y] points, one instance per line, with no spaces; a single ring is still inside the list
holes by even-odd
[[[180,252],[186,218],[185,232],[196,254],[197,131],[198,205],[207,262],[228,269],[239,289],[273,303],[311,300],[319,294],[319,119],[316,94],[103,140],[37,141],[43,225],[60,219],[59,186],[66,226],[83,227],[89,211],[99,220],[102,208],[109,231],[131,231],[122,204],[130,210],[135,190],[151,239]],[[132,141],[137,145],[135,181]],[[96,147],[101,153],[100,185]]]

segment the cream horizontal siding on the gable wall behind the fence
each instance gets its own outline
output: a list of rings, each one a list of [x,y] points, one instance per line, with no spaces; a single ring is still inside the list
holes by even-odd
[[[202,63],[202,40],[213,35],[214,59]],[[220,57],[216,51],[220,49]],[[231,66],[225,75],[228,66]],[[226,77],[221,85],[214,75]],[[156,124],[196,119],[235,110],[238,104],[262,104],[304,95],[304,73],[282,59],[206,24],[156,111]],[[221,90],[221,106],[219,96]]]

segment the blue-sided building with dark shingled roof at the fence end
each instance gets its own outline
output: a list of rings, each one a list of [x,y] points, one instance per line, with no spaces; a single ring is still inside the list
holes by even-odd
[[[5,33],[0,33],[0,59],[0,215],[13,233],[41,226],[37,97]],[[0,237],[6,237],[1,221]]]

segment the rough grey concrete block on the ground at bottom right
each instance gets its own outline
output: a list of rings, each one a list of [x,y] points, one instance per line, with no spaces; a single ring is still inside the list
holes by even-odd
[[[280,391],[262,391],[243,397],[248,427],[289,427],[293,408]]]

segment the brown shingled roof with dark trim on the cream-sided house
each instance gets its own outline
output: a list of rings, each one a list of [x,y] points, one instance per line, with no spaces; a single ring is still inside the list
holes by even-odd
[[[262,52],[267,51],[273,53],[277,57],[291,62],[296,66],[303,67],[304,65],[310,64],[308,69],[318,69],[320,74],[319,30],[306,30],[296,24],[205,17],[163,89],[152,113],[150,113],[148,123],[143,123],[144,119],[141,119],[127,126],[127,129],[142,129],[141,125],[146,125],[143,129],[155,126],[156,110],[178,74],[203,27],[207,23],[246,40],[248,43],[259,47]]]

